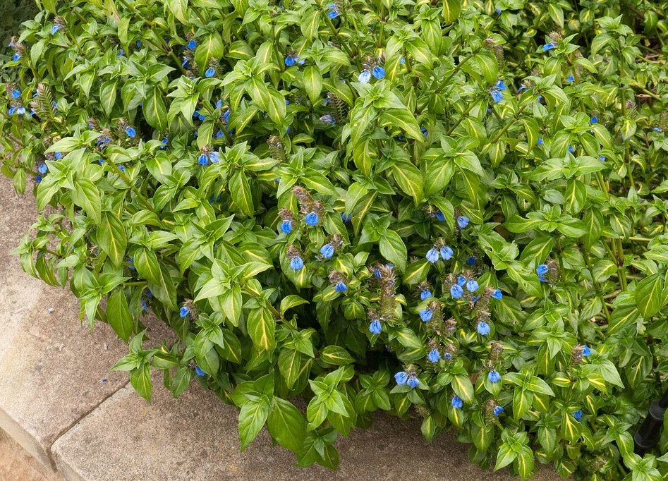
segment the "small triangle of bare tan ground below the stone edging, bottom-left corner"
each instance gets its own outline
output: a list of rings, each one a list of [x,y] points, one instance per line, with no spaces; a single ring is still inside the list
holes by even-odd
[[[63,481],[0,430],[1,481]]]

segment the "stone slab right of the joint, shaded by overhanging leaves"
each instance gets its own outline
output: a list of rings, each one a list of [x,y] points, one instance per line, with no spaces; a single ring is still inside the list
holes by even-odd
[[[155,384],[158,384],[157,386]],[[68,481],[185,480],[511,480],[468,462],[468,448],[445,433],[429,444],[418,420],[378,415],[368,430],[339,439],[339,470],[298,468],[292,453],[272,447],[265,430],[239,452],[238,410],[194,382],[174,399],[154,379],[148,405],[130,388],[116,392],[53,446]],[[561,479],[544,470],[538,480]]]

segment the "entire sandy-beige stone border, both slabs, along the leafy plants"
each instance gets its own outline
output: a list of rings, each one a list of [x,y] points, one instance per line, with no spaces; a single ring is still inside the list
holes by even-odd
[[[17,195],[0,176],[0,428],[65,480],[514,479],[471,465],[451,434],[425,442],[418,420],[377,416],[339,440],[332,472],[296,468],[264,431],[240,453],[238,411],[197,382],[174,399],[154,379],[147,404],[126,373],[109,372],[127,353],[114,332],[101,323],[90,332],[69,291],[23,273],[8,254],[36,218],[32,195]],[[167,334],[157,320],[149,324],[156,339]],[[547,469],[537,478],[561,479]]]

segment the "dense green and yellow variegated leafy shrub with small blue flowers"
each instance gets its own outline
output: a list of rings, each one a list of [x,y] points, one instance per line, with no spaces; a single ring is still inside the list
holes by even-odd
[[[6,64],[3,172],[57,208],[23,268],[147,400],[154,368],[241,408],[242,449],[266,423],[334,468],[386,410],[522,477],[660,479],[632,439],[668,374],[659,7],[44,1]]]

